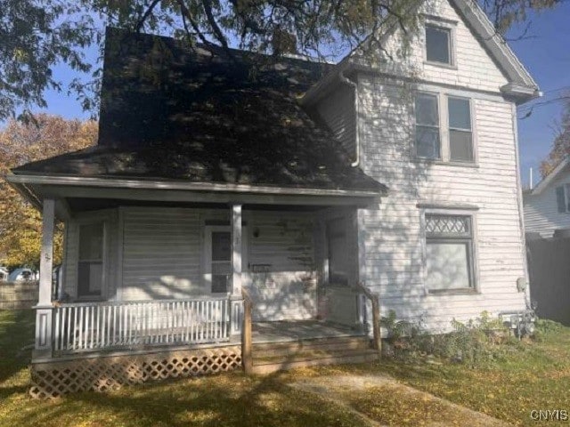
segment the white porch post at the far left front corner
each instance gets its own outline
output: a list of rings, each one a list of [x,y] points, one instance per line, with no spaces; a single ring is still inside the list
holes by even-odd
[[[39,299],[36,309],[36,348],[34,359],[52,357],[52,270],[53,270],[53,226],[55,201],[44,199],[42,215],[42,250],[39,260]]]

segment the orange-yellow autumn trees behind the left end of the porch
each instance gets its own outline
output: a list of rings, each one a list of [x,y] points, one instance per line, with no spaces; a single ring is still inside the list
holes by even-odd
[[[84,149],[97,140],[94,121],[40,114],[33,123],[11,120],[0,131],[0,264],[37,268],[41,214],[5,181],[10,169],[28,162]],[[54,262],[61,262],[62,225],[54,238]],[[4,259],[3,259],[4,258]]]

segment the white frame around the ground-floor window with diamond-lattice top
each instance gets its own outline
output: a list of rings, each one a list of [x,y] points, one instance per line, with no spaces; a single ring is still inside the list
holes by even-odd
[[[426,295],[445,295],[445,294],[479,294],[479,256],[477,250],[477,219],[476,213],[472,210],[465,209],[444,209],[444,208],[424,208],[419,212],[420,218],[420,238],[421,238],[421,273],[424,285],[424,294]],[[471,271],[469,287],[458,287],[453,289],[428,289],[428,235],[426,230],[426,215],[459,215],[468,216],[471,220]]]

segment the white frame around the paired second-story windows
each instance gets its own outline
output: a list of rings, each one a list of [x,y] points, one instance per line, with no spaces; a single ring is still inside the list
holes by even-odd
[[[415,109],[415,95],[417,93],[426,93],[428,95],[435,95],[437,98],[437,106],[439,113],[439,158],[429,158],[429,157],[419,157],[417,155],[416,149],[416,109]],[[475,109],[475,99],[470,96],[470,93],[464,93],[461,91],[454,90],[440,90],[434,89],[434,86],[419,85],[415,90],[414,96],[412,97],[412,122],[413,122],[413,135],[411,135],[411,158],[416,161],[444,164],[444,165],[458,165],[458,166],[469,166],[478,167],[478,149],[477,149],[477,132],[476,132],[476,109]],[[473,149],[473,160],[471,161],[460,161],[451,159],[451,148],[450,148],[450,126],[449,126],[449,98],[464,99],[469,101],[469,116],[471,119],[471,146]]]

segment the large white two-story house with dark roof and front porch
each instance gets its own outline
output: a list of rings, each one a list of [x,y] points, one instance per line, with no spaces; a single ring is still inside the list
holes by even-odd
[[[538,88],[476,3],[411,12],[426,23],[405,60],[334,66],[108,31],[99,144],[8,177],[44,212],[34,394],[249,360],[242,289],[254,359],[286,349],[280,367],[298,361],[284,342],[330,336],[360,350],[322,362],[367,359],[362,294],[432,332],[525,310],[516,106]]]

